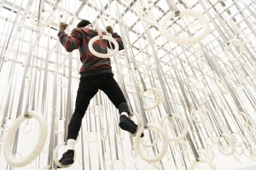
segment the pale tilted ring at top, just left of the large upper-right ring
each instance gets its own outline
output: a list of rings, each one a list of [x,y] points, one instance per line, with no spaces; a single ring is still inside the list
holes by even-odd
[[[157,19],[155,18],[154,14],[146,8],[147,13],[144,11],[143,7],[137,7],[135,12],[138,15],[138,17],[146,22],[149,26],[155,26],[157,25]],[[147,14],[145,16],[145,14]]]

